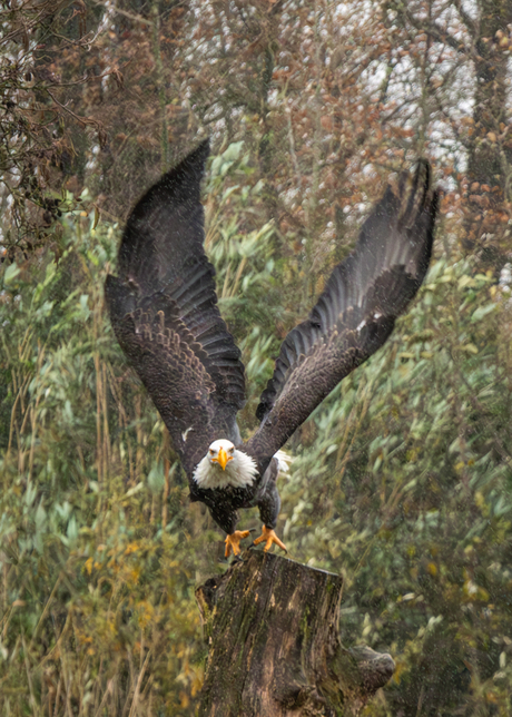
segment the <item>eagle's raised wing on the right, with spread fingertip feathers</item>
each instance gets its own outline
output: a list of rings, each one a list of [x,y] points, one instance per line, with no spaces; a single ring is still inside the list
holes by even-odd
[[[325,396],[393,331],[429,268],[437,193],[420,160],[412,178],[391,187],[364,223],[357,246],[338,264],[309,318],[286,336],[244,446],[264,470]]]

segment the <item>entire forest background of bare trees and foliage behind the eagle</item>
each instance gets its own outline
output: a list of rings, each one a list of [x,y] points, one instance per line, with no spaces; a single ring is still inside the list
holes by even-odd
[[[425,286],[289,441],[278,530],[343,574],[345,644],[396,661],[366,715],[512,714],[511,23],[510,0],[2,3],[2,715],[195,714],[221,536],[102,286],[134,202],[206,135],[246,436],[387,178],[433,163]]]

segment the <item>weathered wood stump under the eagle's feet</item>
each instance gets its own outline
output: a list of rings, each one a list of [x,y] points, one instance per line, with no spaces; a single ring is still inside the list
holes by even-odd
[[[394,662],[342,646],[342,586],[339,576],[250,551],[198,588],[210,646],[199,717],[357,715]]]

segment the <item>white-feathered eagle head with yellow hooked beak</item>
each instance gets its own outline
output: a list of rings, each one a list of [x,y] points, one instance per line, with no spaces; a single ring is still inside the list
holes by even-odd
[[[256,462],[227,439],[214,441],[194,471],[199,488],[246,488],[257,475]]]

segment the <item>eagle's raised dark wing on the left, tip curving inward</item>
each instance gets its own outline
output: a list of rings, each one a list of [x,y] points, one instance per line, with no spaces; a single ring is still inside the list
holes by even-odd
[[[200,181],[208,141],[131,212],[106,298],[116,336],[142,380],[187,473],[216,438],[239,442],[240,352],[217,307],[204,244]]]

